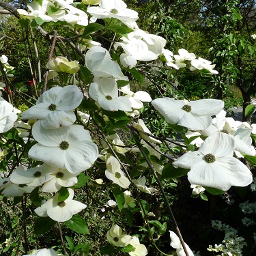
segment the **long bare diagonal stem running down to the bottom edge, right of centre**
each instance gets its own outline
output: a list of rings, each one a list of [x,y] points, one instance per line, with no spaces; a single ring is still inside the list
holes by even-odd
[[[177,222],[175,221],[175,217],[173,215],[173,212],[171,210],[171,206],[169,205],[169,202],[167,200],[167,197],[165,195],[165,190],[162,187],[162,182],[160,181],[158,175],[156,174],[156,171],[154,170],[154,168],[151,165],[150,160],[147,158],[147,155],[145,154],[145,152],[143,151],[143,148],[141,147],[141,144],[139,143],[139,141],[137,141],[137,146],[139,147],[139,150],[141,151],[141,154],[143,155],[143,157],[145,158],[147,165],[150,167],[152,173],[154,174],[154,177],[156,178],[156,182],[158,183],[158,186],[160,188],[160,191],[162,193],[162,197],[164,198],[165,204],[167,205],[167,210],[171,216],[171,221],[173,222],[173,226],[175,227],[176,231],[177,231],[177,236],[180,238],[180,242],[182,244],[182,247],[184,249],[184,252],[186,253],[186,256],[189,256],[188,251],[186,250],[186,246],[184,244],[184,240],[182,238],[182,234],[180,233],[180,229],[177,225]]]

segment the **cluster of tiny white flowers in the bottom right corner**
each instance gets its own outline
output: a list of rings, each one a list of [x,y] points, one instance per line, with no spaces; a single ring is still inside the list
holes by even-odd
[[[208,251],[221,253],[221,256],[242,256],[242,248],[247,246],[244,238],[238,236],[238,231],[225,225],[221,221],[212,221],[212,227],[220,231],[225,231],[225,238],[222,244],[210,245]]]

